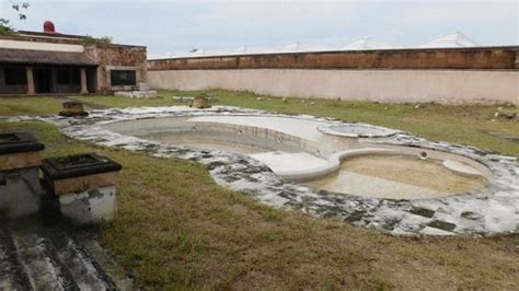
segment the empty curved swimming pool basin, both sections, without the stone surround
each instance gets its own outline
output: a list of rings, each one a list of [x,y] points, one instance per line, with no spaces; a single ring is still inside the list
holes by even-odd
[[[435,150],[381,144],[397,131],[328,125],[289,116],[206,115],[112,123],[124,135],[249,155],[278,176],[332,193],[423,199],[485,187],[492,173],[471,159]]]

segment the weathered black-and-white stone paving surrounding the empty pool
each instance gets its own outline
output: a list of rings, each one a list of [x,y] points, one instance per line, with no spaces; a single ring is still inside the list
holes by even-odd
[[[457,196],[413,200],[378,199],[315,190],[289,183],[279,178],[264,163],[246,155],[175,147],[106,129],[106,126],[114,121],[155,120],[159,117],[208,117],[209,115],[296,117],[226,106],[204,110],[173,106],[92,110],[90,116],[83,119],[58,116],[39,117],[39,119],[57,125],[62,133],[74,139],[147,152],[154,156],[182,158],[200,162],[208,166],[214,179],[226,187],[245,191],[266,205],[298,209],[319,218],[383,229],[395,234],[494,234],[518,231],[519,163],[517,159],[472,147],[428,141],[403,132],[383,139],[370,139],[371,147],[404,147],[416,153],[440,152],[453,154],[460,159],[470,159],[484,165],[492,173],[492,181],[485,187]],[[312,116],[297,116],[297,119],[344,125],[330,118]]]

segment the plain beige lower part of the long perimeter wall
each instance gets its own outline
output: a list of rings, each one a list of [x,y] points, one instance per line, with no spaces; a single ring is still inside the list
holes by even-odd
[[[286,97],[519,105],[517,70],[155,70],[148,71],[148,81],[153,89],[226,89]]]

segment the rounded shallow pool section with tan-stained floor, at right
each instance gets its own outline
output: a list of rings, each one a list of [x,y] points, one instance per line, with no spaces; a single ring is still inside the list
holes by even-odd
[[[304,183],[334,193],[392,199],[446,197],[471,191],[486,184],[482,175],[455,173],[447,168],[442,161],[400,154],[349,158],[343,161],[337,173]]]

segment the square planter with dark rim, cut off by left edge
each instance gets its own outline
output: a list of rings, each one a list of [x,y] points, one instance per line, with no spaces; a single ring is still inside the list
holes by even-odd
[[[38,211],[43,149],[26,132],[0,133],[0,216],[15,219]]]

